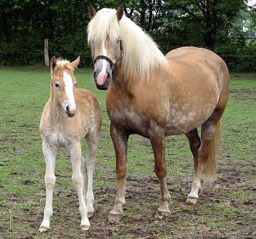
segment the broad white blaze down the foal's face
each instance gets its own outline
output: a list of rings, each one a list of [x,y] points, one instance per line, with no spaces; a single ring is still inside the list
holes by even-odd
[[[76,110],[76,105],[73,92],[72,77],[65,71],[63,72],[63,81],[65,84],[65,93],[67,96],[67,102],[64,103],[64,109],[66,109],[66,107],[69,106],[69,111],[74,112]]]

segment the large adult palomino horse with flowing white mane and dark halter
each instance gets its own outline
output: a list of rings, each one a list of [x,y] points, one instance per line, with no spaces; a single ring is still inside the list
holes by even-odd
[[[170,216],[165,136],[185,133],[189,140],[195,178],[186,202],[196,204],[205,163],[210,163],[212,177],[216,171],[229,71],[219,56],[202,48],[182,47],[164,56],[123,12],[122,5],[117,11],[98,12],[90,6],[87,29],[94,81],[98,89],[108,89],[106,106],[116,153],[117,193],[108,219],[123,218],[127,140],[133,133],[149,138],[152,144],[161,189],[156,218],[161,219]]]

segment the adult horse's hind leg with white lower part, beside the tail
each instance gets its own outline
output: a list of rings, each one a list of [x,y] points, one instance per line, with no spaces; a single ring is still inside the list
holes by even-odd
[[[186,203],[196,204],[199,201],[199,192],[201,190],[201,183],[203,182],[203,171],[205,163],[209,155],[209,146],[214,137],[215,126],[218,121],[207,120],[202,125],[202,142],[198,149],[198,166],[195,173],[195,179],[192,184],[192,189],[187,196]]]

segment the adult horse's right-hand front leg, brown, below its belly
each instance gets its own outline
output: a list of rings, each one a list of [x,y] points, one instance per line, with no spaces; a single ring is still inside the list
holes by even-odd
[[[155,127],[156,129],[157,127]],[[169,218],[171,212],[169,203],[171,200],[166,184],[166,164],[165,164],[165,135],[164,130],[160,129],[152,133],[150,137],[151,145],[155,156],[155,173],[160,181],[161,205],[157,210],[156,219]]]

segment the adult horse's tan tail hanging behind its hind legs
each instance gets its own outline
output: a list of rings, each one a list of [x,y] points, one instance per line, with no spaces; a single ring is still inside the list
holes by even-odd
[[[216,168],[219,159],[219,148],[222,141],[222,119],[218,121],[215,126],[215,132],[213,140],[209,146],[209,155],[205,164],[205,173],[206,175],[214,180],[216,176]]]

